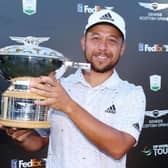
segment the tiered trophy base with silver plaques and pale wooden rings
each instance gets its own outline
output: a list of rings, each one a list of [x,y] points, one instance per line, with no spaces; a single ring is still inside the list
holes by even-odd
[[[16,128],[50,128],[48,107],[34,104],[44,97],[29,91],[30,77],[12,79],[8,90],[2,94],[0,124]]]

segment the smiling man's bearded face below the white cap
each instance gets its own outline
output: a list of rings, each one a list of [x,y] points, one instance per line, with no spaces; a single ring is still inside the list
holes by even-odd
[[[90,28],[81,44],[92,70],[102,73],[113,70],[125,49],[121,33],[107,24]]]

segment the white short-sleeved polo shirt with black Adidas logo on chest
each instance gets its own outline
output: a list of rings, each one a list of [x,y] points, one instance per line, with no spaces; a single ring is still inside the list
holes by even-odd
[[[100,86],[92,88],[81,70],[61,83],[68,94],[90,114],[109,126],[124,131],[138,141],[145,112],[141,86],[119,78],[116,71]],[[125,168],[126,155],[115,160],[93,145],[68,118],[50,110],[52,123],[47,168]]]

